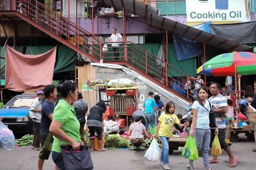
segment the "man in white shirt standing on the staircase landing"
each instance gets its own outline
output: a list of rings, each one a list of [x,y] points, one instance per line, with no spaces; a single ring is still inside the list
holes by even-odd
[[[113,49],[113,53],[115,54],[115,60],[119,59],[119,43],[115,43],[115,42],[122,42],[123,41],[123,37],[122,35],[120,35],[120,33],[117,33],[116,28],[113,28],[113,34],[108,38],[108,42],[112,42],[111,43],[111,47]]]

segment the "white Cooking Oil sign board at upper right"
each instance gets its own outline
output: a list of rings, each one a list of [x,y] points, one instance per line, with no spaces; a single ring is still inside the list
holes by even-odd
[[[250,21],[248,0],[186,0],[187,24],[211,21],[230,24]]]

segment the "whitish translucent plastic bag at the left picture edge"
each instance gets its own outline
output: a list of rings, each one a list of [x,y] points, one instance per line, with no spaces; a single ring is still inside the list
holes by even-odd
[[[7,150],[12,150],[15,147],[15,137],[12,130],[4,126],[2,122],[0,122],[0,146]]]

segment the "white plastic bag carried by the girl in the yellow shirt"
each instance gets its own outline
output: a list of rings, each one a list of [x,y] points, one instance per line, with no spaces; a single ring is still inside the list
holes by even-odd
[[[152,143],[150,144],[147,152],[145,153],[144,158],[147,158],[147,160],[149,161],[159,161],[160,148],[155,138],[152,140]]]

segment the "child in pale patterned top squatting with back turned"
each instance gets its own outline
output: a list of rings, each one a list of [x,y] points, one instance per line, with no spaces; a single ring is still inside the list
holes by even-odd
[[[130,140],[134,146],[134,150],[138,150],[140,145],[143,143],[144,136],[148,137],[145,124],[145,119],[143,116],[136,116],[135,122],[129,127],[128,135],[130,135]]]

